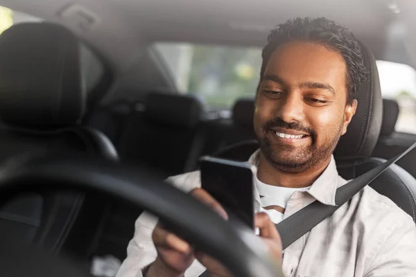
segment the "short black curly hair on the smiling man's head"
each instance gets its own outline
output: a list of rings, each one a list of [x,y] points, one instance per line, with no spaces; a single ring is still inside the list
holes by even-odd
[[[361,46],[354,35],[335,21],[319,17],[311,19],[295,18],[277,25],[268,36],[268,43],[263,48],[260,80],[270,56],[275,49],[293,40],[307,40],[323,44],[332,51],[337,51],[347,63],[347,104],[356,99],[358,86],[365,79],[367,69],[364,65]]]

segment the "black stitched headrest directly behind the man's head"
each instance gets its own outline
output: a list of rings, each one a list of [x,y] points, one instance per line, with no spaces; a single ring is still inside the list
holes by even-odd
[[[361,51],[367,67],[367,76],[358,90],[356,114],[334,152],[338,161],[370,157],[381,130],[383,102],[376,60],[362,44]]]

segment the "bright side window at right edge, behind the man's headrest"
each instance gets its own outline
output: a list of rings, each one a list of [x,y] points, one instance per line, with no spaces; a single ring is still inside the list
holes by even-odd
[[[383,98],[397,100],[400,107],[395,129],[416,134],[416,71],[406,64],[377,61]]]

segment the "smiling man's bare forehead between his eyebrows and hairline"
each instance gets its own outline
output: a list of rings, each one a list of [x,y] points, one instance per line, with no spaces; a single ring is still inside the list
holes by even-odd
[[[346,87],[347,65],[343,56],[322,44],[289,42],[272,53],[265,74],[277,74],[290,84],[324,82]]]

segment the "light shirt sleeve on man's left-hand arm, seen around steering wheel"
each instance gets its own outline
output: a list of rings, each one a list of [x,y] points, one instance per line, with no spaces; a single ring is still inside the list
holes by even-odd
[[[190,172],[184,175],[170,177],[166,181],[185,193],[200,187],[200,172]],[[135,235],[127,247],[127,258],[123,261],[116,277],[141,277],[141,269],[153,262],[157,251],[152,241],[153,229],[157,224],[157,217],[143,212],[135,222]],[[198,277],[204,268],[198,261],[187,271],[187,277]]]

